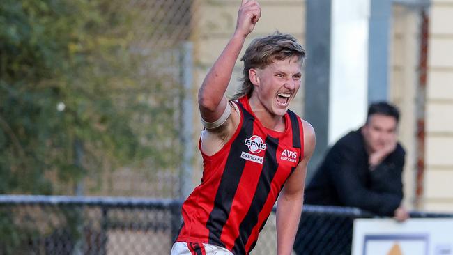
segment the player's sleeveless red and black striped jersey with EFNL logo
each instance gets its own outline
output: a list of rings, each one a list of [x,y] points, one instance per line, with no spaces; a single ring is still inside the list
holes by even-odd
[[[284,132],[263,127],[246,97],[235,102],[240,123],[220,151],[205,155],[203,178],[183,203],[176,242],[209,243],[248,254],[286,179],[303,157],[302,121],[292,111]]]

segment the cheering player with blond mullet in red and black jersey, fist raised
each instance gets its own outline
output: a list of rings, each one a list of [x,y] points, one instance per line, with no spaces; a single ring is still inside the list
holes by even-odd
[[[314,150],[312,126],[288,109],[300,87],[304,49],[282,33],[256,38],[242,59],[236,100],[224,97],[260,16],[257,1],[242,1],[236,31],[199,90],[204,171],[183,203],[172,255],[249,254],[277,196],[277,254],[291,254]]]

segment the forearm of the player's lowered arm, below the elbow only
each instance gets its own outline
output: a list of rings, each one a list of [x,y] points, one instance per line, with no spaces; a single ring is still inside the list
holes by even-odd
[[[302,196],[281,196],[277,204],[277,254],[292,252],[302,213]]]

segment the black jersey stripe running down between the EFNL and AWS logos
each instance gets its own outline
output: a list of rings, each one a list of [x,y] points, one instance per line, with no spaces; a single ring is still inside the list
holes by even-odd
[[[278,169],[278,143],[278,139],[270,136],[266,137],[266,155],[264,156],[265,161],[263,162],[263,170],[259,176],[256,192],[253,196],[249,211],[247,212],[247,215],[245,215],[243,222],[240,222],[239,236],[234,241],[233,254],[247,254],[245,245],[247,244],[247,240],[249,239],[254,226],[258,223],[257,215],[263,210],[264,203],[266,203],[270,192],[270,183],[272,183],[272,179]]]

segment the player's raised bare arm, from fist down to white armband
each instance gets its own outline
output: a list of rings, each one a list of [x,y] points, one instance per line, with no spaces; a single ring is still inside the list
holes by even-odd
[[[224,93],[227,91],[234,65],[245,38],[253,31],[260,16],[261,8],[256,0],[242,1],[238,11],[236,30],[199,89],[198,104],[204,121],[215,122],[224,113],[227,107],[227,98],[224,97]]]

